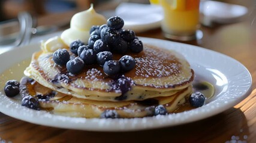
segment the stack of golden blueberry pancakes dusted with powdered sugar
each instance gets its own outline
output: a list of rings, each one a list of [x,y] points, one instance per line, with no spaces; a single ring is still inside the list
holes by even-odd
[[[92,118],[115,110],[122,118],[146,117],[152,116],[158,105],[164,105],[168,113],[175,111],[192,92],[194,71],[188,61],[177,52],[152,45],[144,45],[139,54],[128,53],[136,61],[135,68],[117,75],[131,80],[127,92],[113,88],[116,79],[107,76],[98,64],[74,75],[55,64],[52,55],[34,53],[24,71],[29,78],[24,77],[21,83],[30,95],[49,97],[39,100],[40,108],[53,114]],[[120,57],[115,54],[113,58]]]

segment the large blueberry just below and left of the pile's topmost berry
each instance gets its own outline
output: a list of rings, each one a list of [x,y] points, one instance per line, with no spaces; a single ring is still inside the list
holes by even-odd
[[[118,30],[110,29],[109,27],[104,27],[103,30],[101,30],[101,39],[108,44],[112,44],[120,38],[121,36]]]

